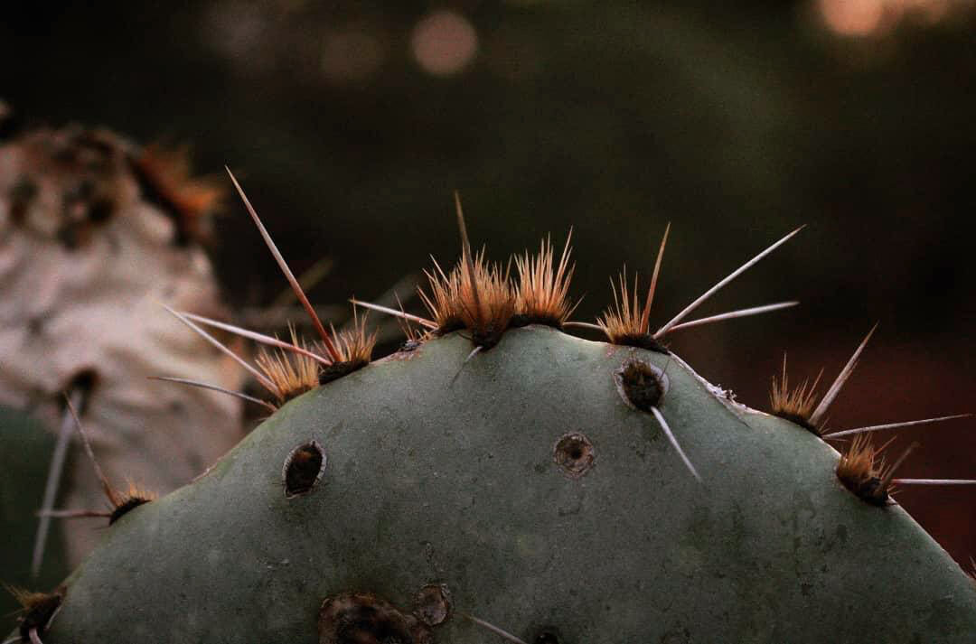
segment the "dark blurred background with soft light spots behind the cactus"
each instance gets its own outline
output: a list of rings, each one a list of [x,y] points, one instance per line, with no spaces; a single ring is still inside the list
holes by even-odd
[[[784,351],[793,379],[833,380],[879,321],[831,426],[907,421],[976,411],[973,4],[41,3],[0,24],[0,132],[190,144],[198,174],[235,171],[297,273],[332,262],[323,304],[452,262],[455,188],[499,260],[572,226],[586,321],[624,264],[649,276],[668,221],[658,325],[807,223],[702,313],[801,306],[671,348],[768,409]],[[236,199],[207,254],[231,310],[286,286]],[[892,450],[921,447],[900,475],[976,477],[974,432],[903,430]],[[898,500],[971,570],[976,493]]]

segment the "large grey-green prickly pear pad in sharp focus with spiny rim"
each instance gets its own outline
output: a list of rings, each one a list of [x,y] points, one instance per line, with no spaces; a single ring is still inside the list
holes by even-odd
[[[282,402],[206,475],[110,526],[65,581],[46,644],[972,640],[968,577],[897,503],[852,494],[820,435],[598,324],[560,326],[610,342],[513,327],[529,310],[513,294],[539,290],[471,253],[457,212],[461,262],[431,273],[430,318],[385,311],[426,330],[409,357],[364,357]],[[616,310],[660,339],[785,307],[682,322],[797,231],[653,334],[653,293],[639,315],[633,300]],[[571,310],[558,265],[531,279]],[[313,326],[321,344],[247,337],[319,368],[346,361]],[[885,489],[911,480],[874,452],[845,459]]]

